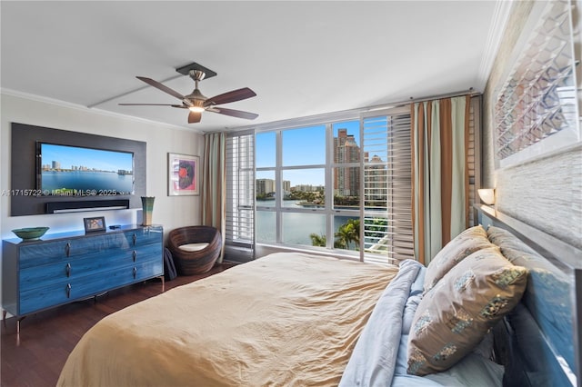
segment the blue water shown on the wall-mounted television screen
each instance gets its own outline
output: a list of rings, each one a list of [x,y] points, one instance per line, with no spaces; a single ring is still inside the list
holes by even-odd
[[[134,176],[113,172],[43,171],[42,190],[55,193],[59,190],[76,190],[99,194],[132,193]]]

